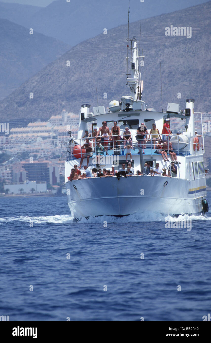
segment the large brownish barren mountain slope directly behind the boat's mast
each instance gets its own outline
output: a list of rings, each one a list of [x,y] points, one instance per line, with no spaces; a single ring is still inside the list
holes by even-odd
[[[167,103],[185,108],[196,99],[195,111],[210,111],[211,1],[141,21],[141,52],[144,49],[142,99],[148,107],[162,109],[160,61],[162,65],[163,109]],[[165,27],[191,27],[191,38],[166,36]],[[140,21],[130,24],[129,36],[139,37]],[[0,103],[1,121],[16,118],[48,119],[63,108],[78,113],[82,103],[108,107],[111,100],[129,94],[126,87],[127,25],[90,38],[70,49],[39,71]],[[66,61],[70,61],[70,67]],[[34,98],[29,99],[33,92]],[[103,94],[107,93],[107,99]],[[178,99],[181,93],[181,99]]]

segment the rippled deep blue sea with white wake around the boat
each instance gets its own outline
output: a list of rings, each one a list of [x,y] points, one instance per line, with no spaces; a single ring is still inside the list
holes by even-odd
[[[0,198],[0,217],[0,315],[10,320],[201,321],[211,311],[210,212],[191,216],[191,230],[150,210],[73,223],[66,197],[27,196]]]

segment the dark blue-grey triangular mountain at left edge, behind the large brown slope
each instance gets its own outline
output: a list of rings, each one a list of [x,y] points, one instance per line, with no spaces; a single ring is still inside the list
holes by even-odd
[[[0,99],[70,49],[7,19],[0,19],[0,37]]]

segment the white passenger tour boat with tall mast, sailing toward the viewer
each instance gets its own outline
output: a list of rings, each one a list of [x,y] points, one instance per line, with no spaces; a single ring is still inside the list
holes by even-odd
[[[129,56],[128,56],[129,55]],[[161,213],[164,215],[178,216],[181,214],[204,215],[208,211],[206,200],[206,176],[204,168],[204,137],[202,129],[202,114],[197,113],[200,117],[202,134],[199,138],[195,130],[194,99],[187,99],[185,108],[179,110],[178,104],[168,103],[164,112],[148,110],[147,105],[142,100],[143,81],[141,80],[140,59],[144,56],[138,56],[137,38],[127,38],[127,75],[126,84],[130,90],[129,95],[123,95],[120,100],[112,100],[109,103],[107,113],[104,106],[93,107],[90,112],[89,104],[82,104],[79,116],[79,128],[77,138],[71,136],[66,144],[66,161],[65,161],[65,187],[67,193],[67,202],[71,211],[73,220],[81,217],[90,216],[128,216],[140,213]],[[153,149],[152,135],[146,143],[146,149],[137,141],[137,129],[146,127],[149,130],[152,124],[161,134],[164,123],[174,119],[181,119],[182,130],[175,132],[168,137],[162,137],[167,144],[167,159],[162,158],[158,149]],[[91,177],[84,180],[72,180],[68,178],[71,169],[76,164],[79,166],[80,158],[84,155],[82,149],[85,143],[82,138],[85,129],[91,131],[91,139],[94,137],[94,128],[97,131],[106,121],[106,126],[111,131],[114,121],[117,121],[120,127],[120,142],[117,147],[114,136],[112,135],[108,155],[101,155],[100,164],[111,168],[115,165],[117,171],[126,162],[126,151],[123,144],[123,134],[125,127],[131,132],[132,145],[132,167],[134,175],[129,177],[124,173],[119,173],[113,177]],[[181,125],[181,124],[180,124]],[[197,123],[198,126],[198,123]],[[140,130],[139,130],[140,131]],[[139,137],[140,138],[140,137]],[[89,138],[90,139],[90,138]],[[96,168],[96,143],[92,144],[93,156],[89,158],[88,168]],[[143,141],[142,141],[143,143]],[[163,144],[162,141],[161,144]],[[156,141],[156,145],[158,142]],[[145,145],[145,144],[144,144]],[[113,149],[112,149],[113,146]],[[169,154],[170,147],[176,155],[177,162],[172,164],[177,167],[177,174],[171,166],[172,155]],[[165,147],[166,148],[166,147]],[[83,160],[86,164],[86,158]],[[128,158],[130,161],[130,158]],[[99,161],[98,161],[99,162]],[[145,163],[149,162],[150,167],[155,168],[159,163],[161,169],[166,168],[169,176],[161,174],[146,175],[144,172]],[[137,170],[140,171],[136,175]],[[140,175],[143,174],[143,175]]]

